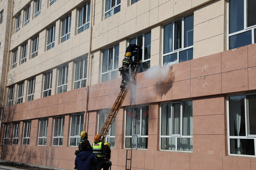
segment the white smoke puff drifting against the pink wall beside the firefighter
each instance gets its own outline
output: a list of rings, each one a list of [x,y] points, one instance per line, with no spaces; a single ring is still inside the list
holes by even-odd
[[[162,68],[159,65],[151,67],[145,72],[144,76],[147,79],[155,79],[158,82],[163,82],[168,79],[170,67],[176,63],[177,60],[164,64]]]

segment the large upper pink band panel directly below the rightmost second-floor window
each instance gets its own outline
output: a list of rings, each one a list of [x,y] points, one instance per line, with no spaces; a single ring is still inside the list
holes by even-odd
[[[247,46],[222,52],[222,72],[248,67]]]

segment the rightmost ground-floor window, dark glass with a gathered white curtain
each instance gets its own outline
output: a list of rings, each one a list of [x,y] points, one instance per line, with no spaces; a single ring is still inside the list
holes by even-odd
[[[229,155],[255,157],[256,94],[229,96],[227,102]]]

